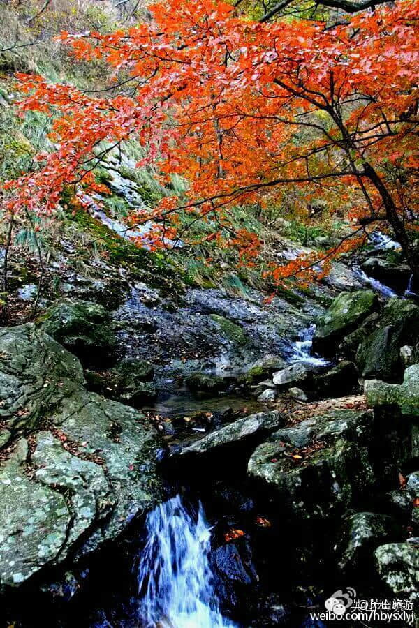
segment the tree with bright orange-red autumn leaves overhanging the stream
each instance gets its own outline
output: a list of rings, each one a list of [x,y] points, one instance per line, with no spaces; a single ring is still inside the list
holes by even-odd
[[[84,94],[43,77],[18,76],[22,112],[54,117],[52,154],[17,181],[6,181],[7,208],[52,214],[65,186],[83,204],[100,190],[94,169],[135,138],[144,163],[158,163],[163,181],[180,174],[183,197],[165,197],[133,211],[131,225],[153,220],[154,244],[190,223],[228,225],[234,204],[272,204],[287,190],[332,207],[351,204],[353,229],[326,253],[273,270],[278,283],[321,274],[332,257],[365,241],[369,230],[392,230],[419,284],[418,253],[418,1],[401,0],[355,13],[332,25],[316,20],[258,22],[212,0],[169,0],[153,20],[127,31],[62,33],[77,59],[104,59],[115,70],[111,93]],[[117,94],[117,96],[115,96]],[[142,164],[141,164],[142,165]],[[231,239],[242,260],[258,239]]]

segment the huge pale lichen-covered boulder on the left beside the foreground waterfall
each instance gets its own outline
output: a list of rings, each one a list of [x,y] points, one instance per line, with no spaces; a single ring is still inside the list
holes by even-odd
[[[84,389],[82,366],[34,324],[0,331],[0,584],[115,539],[154,506],[157,433]]]

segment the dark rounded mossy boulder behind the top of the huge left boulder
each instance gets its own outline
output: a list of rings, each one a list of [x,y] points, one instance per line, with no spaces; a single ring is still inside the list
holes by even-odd
[[[90,301],[64,300],[41,317],[46,334],[74,353],[86,366],[103,368],[115,347],[110,315],[103,306]]]

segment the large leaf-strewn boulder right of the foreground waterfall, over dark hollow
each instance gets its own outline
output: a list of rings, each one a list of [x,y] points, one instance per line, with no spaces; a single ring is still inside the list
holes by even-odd
[[[341,512],[374,482],[372,420],[369,411],[339,410],[279,429],[253,452],[249,477],[300,520]]]

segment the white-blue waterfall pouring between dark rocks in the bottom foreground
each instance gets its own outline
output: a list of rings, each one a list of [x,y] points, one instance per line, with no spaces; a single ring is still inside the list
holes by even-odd
[[[138,566],[139,619],[147,628],[233,628],[221,615],[209,562],[210,525],[179,495],[147,516]]]

